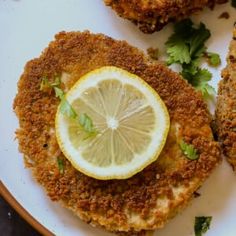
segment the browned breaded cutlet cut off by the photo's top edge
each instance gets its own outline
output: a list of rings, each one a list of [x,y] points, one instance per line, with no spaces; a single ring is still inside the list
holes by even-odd
[[[167,23],[187,18],[204,7],[227,0],[104,0],[117,14],[135,23],[144,33],[161,30]]]

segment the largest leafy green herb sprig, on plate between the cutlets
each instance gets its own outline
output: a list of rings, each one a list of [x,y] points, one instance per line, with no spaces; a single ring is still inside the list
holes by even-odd
[[[214,95],[215,90],[208,84],[212,74],[200,68],[201,59],[207,55],[212,66],[218,66],[221,62],[218,54],[206,52],[205,42],[210,36],[210,31],[203,23],[196,27],[190,19],[185,19],[174,25],[174,33],[166,42],[169,56],[167,64],[180,64],[181,75],[200,90],[203,96]]]

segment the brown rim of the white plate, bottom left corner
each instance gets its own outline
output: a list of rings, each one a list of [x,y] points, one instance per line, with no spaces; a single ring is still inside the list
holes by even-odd
[[[10,204],[10,206],[34,229],[44,236],[54,236],[54,234],[37,221],[10,193],[4,183],[0,180],[0,195]]]

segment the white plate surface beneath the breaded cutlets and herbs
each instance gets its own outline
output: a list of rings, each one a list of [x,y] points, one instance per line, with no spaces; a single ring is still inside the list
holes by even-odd
[[[230,19],[218,19],[228,11]],[[223,63],[212,70],[217,85],[220,70],[225,66],[225,56],[232,35],[236,10],[230,5],[217,6],[214,12],[205,10],[195,16],[210,28],[212,37],[209,50],[220,53]],[[105,7],[102,0],[0,0],[0,177],[4,185],[19,203],[41,224],[56,235],[110,235],[86,225],[71,212],[53,203],[44,190],[25,169],[18,152],[14,131],[18,126],[12,111],[16,86],[25,63],[40,55],[55,33],[89,29],[102,32],[116,39],[127,40],[141,49],[160,47],[171,32],[171,26],[159,33],[145,35],[133,24],[122,20]],[[163,51],[164,48],[161,48]],[[208,236],[235,236],[236,175],[226,162],[219,166],[200,190],[201,197],[175,217],[161,236],[194,235],[194,217],[211,215],[213,221]]]

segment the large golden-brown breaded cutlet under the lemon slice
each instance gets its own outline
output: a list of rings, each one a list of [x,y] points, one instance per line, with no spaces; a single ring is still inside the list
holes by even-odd
[[[126,180],[96,180],[75,170],[59,149],[54,119],[59,99],[40,91],[47,76],[60,75],[68,90],[82,75],[102,66],[116,66],[140,76],[165,102],[171,128],[157,161]],[[137,233],[162,228],[192,199],[220,162],[220,149],[210,128],[211,117],[197,93],[177,73],[150,61],[140,50],[102,34],[61,32],[39,58],[29,61],[18,83],[14,109],[20,127],[20,151],[36,180],[54,201],[82,220],[112,232]],[[180,140],[194,145],[191,161]],[[63,170],[58,168],[63,162]]]

